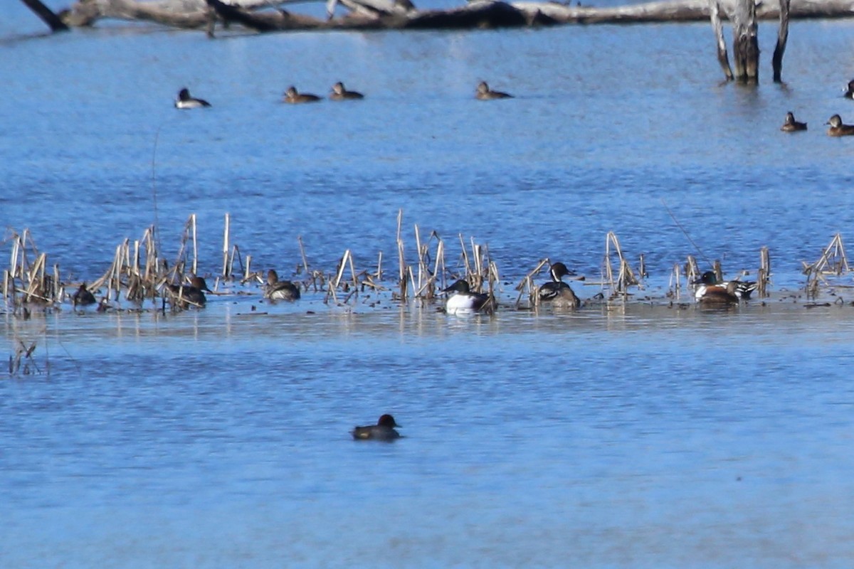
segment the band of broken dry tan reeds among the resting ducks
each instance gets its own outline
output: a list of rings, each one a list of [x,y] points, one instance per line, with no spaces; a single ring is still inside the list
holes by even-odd
[[[493,296],[499,283],[499,270],[489,257],[488,247],[477,243],[474,238],[466,240],[459,235],[459,257],[447,264],[447,245],[436,231],[422,235],[418,224],[414,228],[414,262],[407,256],[407,243],[403,230],[403,211],[397,216],[397,283],[385,282],[383,273],[383,253],[378,253],[375,269],[359,268],[354,253],[346,249],[335,270],[329,274],[313,269],[308,262],[301,237],[297,237],[300,247],[301,263],[295,266],[296,281],[303,291],[325,292],[325,302],[347,305],[359,299],[365,291],[385,291],[392,289],[392,298],[401,302],[409,300],[431,301],[446,287],[447,281],[465,279],[474,292],[489,293]],[[26,316],[28,307],[33,303],[58,305],[66,297],[61,282],[59,266],[49,268],[47,254],[40,253],[28,230],[20,234],[12,233],[5,240],[11,242],[12,253],[9,269],[3,270],[3,298],[14,311]],[[222,247],[222,270],[213,284],[214,290],[219,281],[239,280],[242,284],[264,282],[263,276],[253,272],[252,256],[241,254],[240,248],[231,243],[231,217],[225,215],[225,231]],[[518,283],[517,307],[520,307],[527,294],[529,305],[538,304],[535,277],[551,266],[552,261],[544,258],[533,270],[530,270]],[[623,253],[620,241],[614,232],[605,235],[605,252],[602,260],[600,282],[586,282],[599,285],[603,298],[628,299],[632,288],[643,288],[646,276],[644,257],[639,256],[638,269],[632,267]],[[712,264],[719,281],[722,281],[720,261]],[[822,257],[816,263],[805,264],[807,275],[806,290],[815,296],[820,284],[826,283],[826,276],[839,276],[850,270],[845,257],[841,235],[835,235],[825,248]],[[168,262],[159,254],[159,243],[155,226],[145,229],[143,237],[131,241],[126,239],[115,247],[112,264],[109,269],[88,287],[102,292],[101,304],[115,307],[123,296],[133,305],[141,306],[146,300],[156,303],[161,300],[165,310],[168,303],[171,310],[181,310],[186,303],[181,299],[182,287],[176,285],[185,282],[189,276],[198,274],[198,244],[196,234],[196,215],[192,214],[184,224],[178,254],[173,262]],[[699,278],[701,271],[696,258],[688,256],[685,264],[674,265],[670,275],[668,296],[680,298],[682,279],[686,286]],[[237,277],[239,275],[239,277]],[[770,258],[767,247],[760,251],[760,266],[757,270],[757,292],[760,297],[767,296],[767,287],[771,278]],[[177,295],[177,297],[176,297]]]

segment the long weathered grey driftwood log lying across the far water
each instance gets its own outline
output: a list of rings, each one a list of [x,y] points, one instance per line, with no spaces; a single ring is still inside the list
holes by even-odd
[[[488,2],[477,0],[458,9],[418,10],[408,0],[327,0],[327,13],[336,6],[348,9],[348,15],[320,20],[284,10],[265,10],[288,2],[278,0],[81,0],[64,15],[69,26],[91,26],[102,18],[147,20],[165,26],[200,28],[211,18],[208,4],[220,20],[239,23],[259,32],[307,29],[403,29],[403,28],[477,28],[536,26],[548,24],[635,24],[646,22],[688,22],[711,19],[710,4],[715,0],[678,0],[651,2],[617,8],[568,6],[551,2]],[[781,0],[781,3],[787,0]],[[721,0],[720,9],[731,19],[737,0]],[[240,6],[240,8],[237,8]],[[761,2],[755,7],[757,20],[781,18],[780,6]],[[793,0],[789,19],[850,18],[854,0]],[[785,44],[785,42],[784,42]],[[737,67],[737,66],[736,66]]]

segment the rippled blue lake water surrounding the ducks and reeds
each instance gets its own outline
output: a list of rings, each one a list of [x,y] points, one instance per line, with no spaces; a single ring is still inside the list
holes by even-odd
[[[0,14],[5,38],[41,29]],[[69,279],[155,220],[173,254],[190,213],[215,274],[225,212],[256,267],[287,272],[301,236],[317,268],[350,249],[395,270],[402,209],[407,253],[413,224],[451,259],[473,237],[506,282],[544,257],[595,280],[613,230],[651,287],[688,254],[734,274],[767,246],[793,289],[854,221],[854,146],[822,127],[854,122],[852,32],[795,22],[787,84],[764,57],[757,89],[719,83],[706,24],[10,39],[0,220]],[[517,98],[475,102],[481,79]],[[336,80],[366,100],[278,103]],[[213,107],[173,109],[182,86]],[[788,110],[810,131],[784,136]],[[448,318],[243,292],[174,316],[3,315],[41,373],[0,382],[0,565],[854,563],[850,306]],[[405,438],[349,438],[383,412]]]

